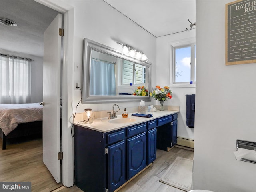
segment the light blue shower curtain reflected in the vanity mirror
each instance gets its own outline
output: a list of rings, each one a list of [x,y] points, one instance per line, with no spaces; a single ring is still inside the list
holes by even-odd
[[[116,95],[115,65],[91,60],[90,95]]]

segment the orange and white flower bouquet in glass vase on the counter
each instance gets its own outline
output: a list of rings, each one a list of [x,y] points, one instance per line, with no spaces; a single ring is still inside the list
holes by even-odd
[[[167,99],[172,98],[172,91],[168,86],[165,86],[164,88],[161,88],[160,86],[156,86],[156,88],[152,89],[152,92],[150,92],[150,96],[154,98],[155,100],[158,100],[161,104],[160,111],[164,110],[164,101]]]

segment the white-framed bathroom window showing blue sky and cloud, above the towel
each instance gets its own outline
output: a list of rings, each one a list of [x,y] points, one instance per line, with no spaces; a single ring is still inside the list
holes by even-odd
[[[172,86],[189,87],[196,83],[196,44],[183,41],[171,45]]]

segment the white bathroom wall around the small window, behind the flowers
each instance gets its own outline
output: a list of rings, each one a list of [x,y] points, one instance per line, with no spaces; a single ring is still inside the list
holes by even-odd
[[[156,38],[156,83],[152,82],[152,86],[170,86],[172,76],[171,66],[171,48],[172,42],[184,40],[187,38],[194,38],[196,36],[195,30],[180,32],[172,35],[162,36]],[[178,113],[178,137],[194,139],[194,128],[186,126],[186,94],[195,94],[194,87],[189,88],[172,88],[173,97],[165,101],[166,105],[180,106],[180,113]],[[155,101],[159,105],[158,101]]]

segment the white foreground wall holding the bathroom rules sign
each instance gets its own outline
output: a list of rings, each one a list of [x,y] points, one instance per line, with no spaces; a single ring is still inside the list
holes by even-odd
[[[225,4],[196,1],[193,189],[254,192],[256,164],[237,161],[236,139],[256,141],[256,64],[225,65]]]

